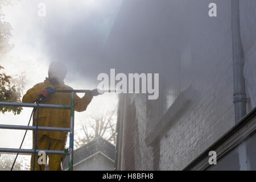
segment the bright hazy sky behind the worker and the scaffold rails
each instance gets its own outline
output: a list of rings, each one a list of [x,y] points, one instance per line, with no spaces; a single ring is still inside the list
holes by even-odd
[[[5,20],[13,28],[10,43],[14,48],[0,60],[1,65],[11,76],[25,72],[24,92],[45,80],[51,61],[62,61],[67,65],[65,84],[74,89],[96,88],[96,76],[100,72],[92,71],[86,65],[99,59],[121,2],[23,0],[4,7]],[[46,5],[46,16],[38,15],[39,3]],[[81,63],[82,67],[79,66]],[[90,76],[90,72],[94,75]],[[75,130],[81,129],[81,123],[91,113],[104,112],[109,105],[117,106],[117,103],[116,94],[94,97],[85,112],[75,113]],[[27,125],[30,113],[30,108],[24,108],[20,115],[1,114],[0,123]],[[1,130],[0,146],[18,148],[23,134],[23,130]],[[23,148],[31,146],[32,133],[28,131]]]

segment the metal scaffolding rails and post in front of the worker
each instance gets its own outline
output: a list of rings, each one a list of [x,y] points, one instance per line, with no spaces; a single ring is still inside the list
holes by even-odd
[[[59,90],[61,92],[62,90]],[[44,151],[46,154],[57,154],[57,155],[69,155],[68,170],[73,170],[73,139],[74,139],[74,114],[75,114],[75,92],[88,92],[88,90],[63,90],[64,92],[71,93],[71,105],[52,105],[52,104],[31,104],[31,103],[19,103],[19,102],[0,102],[0,106],[18,106],[18,107],[44,107],[51,109],[70,109],[70,127],[42,127],[38,126],[38,130],[44,131],[68,131],[69,132],[69,151],[60,150],[36,150],[36,154],[39,151]],[[20,126],[20,125],[0,125],[0,129],[12,129],[12,130],[36,130],[36,126]],[[34,149],[19,149],[19,148],[0,148],[0,152],[8,153],[24,153],[33,154]]]

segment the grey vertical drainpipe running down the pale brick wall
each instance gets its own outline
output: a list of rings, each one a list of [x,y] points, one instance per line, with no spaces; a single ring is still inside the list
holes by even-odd
[[[246,114],[245,78],[243,77],[243,48],[240,35],[239,0],[231,2],[231,31],[233,47],[233,77],[234,94],[233,103],[236,123]]]

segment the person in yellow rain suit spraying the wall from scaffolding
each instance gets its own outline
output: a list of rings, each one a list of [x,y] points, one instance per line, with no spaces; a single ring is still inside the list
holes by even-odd
[[[70,86],[64,84],[64,78],[67,74],[67,68],[62,63],[55,61],[52,62],[48,70],[48,78],[44,82],[40,82],[27,90],[23,96],[22,102],[34,103],[39,100],[39,96],[44,96],[42,104],[57,104],[57,105],[70,105],[70,93],[51,93],[51,89],[66,90],[72,89]],[[46,89],[47,88],[47,89]],[[50,88],[50,90],[48,89]],[[85,111],[93,98],[93,94],[85,93],[84,97],[80,98],[75,94],[75,110]],[[34,125],[36,125],[37,111],[35,111]],[[39,122],[38,126],[49,127],[70,127],[70,110],[69,109],[39,109]],[[61,131],[40,131],[38,130],[37,149],[40,150],[64,150],[67,142],[67,132]],[[35,148],[35,138],[33,133],[33,148]],[[49,169],[50,171],[62,170],[61,160],[63,155],[49,155]],[[34,154],[31,156],[31,170],[34,166]],[[45,170],[46,165],[38,164],[38,156],[36,155],[35,170]]]

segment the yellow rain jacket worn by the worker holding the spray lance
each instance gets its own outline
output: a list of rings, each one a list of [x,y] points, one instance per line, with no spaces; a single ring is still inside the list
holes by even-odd
[[[52,85],[49,80],[45,80],[39,84],[33,86],[33,88],[27,90],[24,94],[22,102],[34,103],[39,99],[39,90],[46,89],[50,86],[56,90],[69,90],[72,89],[63,83],[59,85]],[[75,94],[75,111],[85,111],[89,105],[93,96],[86,93],[84,97],[80,98]],[[71,104],[71,93],[59,93],[55,92],[50,94],[46,98],[49,101],[42,101],[41,104],[57,104],[57,105],[70,105]],[[36,125],[37,111],[35,112],[35,123]],[[70,127],[70,110],[69,109],[50,109],[40,108],[39,109],[39,123],[38,126],[49,126],[49,127]],[[67,132],[61,131],[38,131],[38,139],[43,135],[47,135],[49,138],[59,139],[63,142],[67,141]]]

